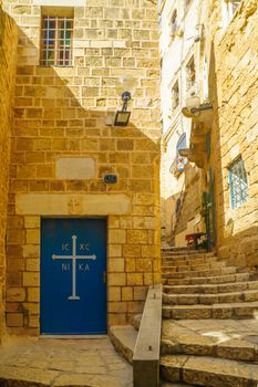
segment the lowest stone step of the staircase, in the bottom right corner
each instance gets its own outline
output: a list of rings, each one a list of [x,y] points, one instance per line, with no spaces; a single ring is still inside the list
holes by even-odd
[[[205,387],[257,387],[256,364],[208,356],[162,356],[161,375],[174,383]]]

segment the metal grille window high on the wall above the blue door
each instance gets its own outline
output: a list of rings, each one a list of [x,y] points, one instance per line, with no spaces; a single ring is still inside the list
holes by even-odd
[[[72,65],[73,19],[43,17],[41,25],[41,65]]]

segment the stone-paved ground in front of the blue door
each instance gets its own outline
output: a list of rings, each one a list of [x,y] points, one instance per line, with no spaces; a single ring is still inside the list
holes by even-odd
[[[103,338],[11,338],[0,346],[0,386],[132,387],[133,370]]]

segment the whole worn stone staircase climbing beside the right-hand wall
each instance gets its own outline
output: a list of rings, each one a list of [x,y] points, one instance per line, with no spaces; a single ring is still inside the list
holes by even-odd
[[[257,387],[257,273],[213,252],[162,255],[162,386]]]

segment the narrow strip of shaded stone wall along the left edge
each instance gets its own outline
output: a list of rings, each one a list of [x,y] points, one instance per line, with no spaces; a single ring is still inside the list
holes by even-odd
[[[16,72],[17,28],[0,6],[0,341],[3,334],[8,171],[12,97]]]

